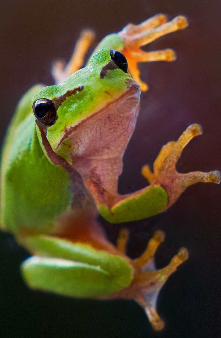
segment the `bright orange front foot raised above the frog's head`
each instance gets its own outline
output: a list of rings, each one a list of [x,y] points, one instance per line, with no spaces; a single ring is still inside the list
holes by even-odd
[[[174,61],[176,55],[172,49],[144,52],[140,47],[149,44],[163,35],[184,29],[187,26],[186,17],[178,16],[172,21],[167,22],[167,17],[164,14],[158,14],[142,22],[140,25],[128,24],[118,33],[123,41],[124,47],[121,51],[127,59],[129,72],[134,80],[140,84],[142,91],[146,91],[148,87],[140,79],[140,71],[137,64],[149,61]]]

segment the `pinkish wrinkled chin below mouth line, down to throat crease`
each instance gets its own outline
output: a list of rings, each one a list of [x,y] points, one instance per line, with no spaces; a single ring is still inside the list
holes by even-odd
[[[139,85],[128,84],[115,101],[69,127],[55,152],[72,163],[77,156],[97,160],[122,156],[136,125],[139,103]]]

